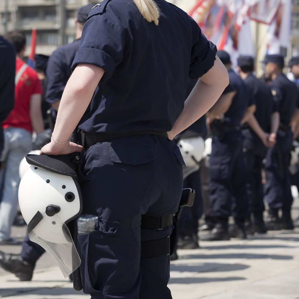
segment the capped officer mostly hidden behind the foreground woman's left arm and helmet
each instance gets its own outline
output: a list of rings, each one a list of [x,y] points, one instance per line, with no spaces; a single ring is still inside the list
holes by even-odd
[[[58,110],[62,92],[71,75],[71,65],[79,49],[83,25],[92,7],[94,4],[88,4],[78,11],[78,18],[75,20],[76,40],[55,50],[48,60],[46,100],[54,109]],[[14,273],[20,280],[31,280],[36,261],[44,252],[45,250],[41,246],[30,241],[27,234],[22,243],[21,254],[0,251],[0,266]]]

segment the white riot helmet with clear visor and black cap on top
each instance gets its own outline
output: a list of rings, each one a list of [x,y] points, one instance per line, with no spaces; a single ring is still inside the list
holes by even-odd
[[[66,224],[82,212],[77,174],[68,155],[26,155],[31,164],[19,186],[19,205],[31,241],[41,245],[67,277],[80,258]]]

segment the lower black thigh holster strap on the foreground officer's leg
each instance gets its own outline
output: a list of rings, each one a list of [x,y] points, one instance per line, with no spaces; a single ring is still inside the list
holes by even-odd
[[[141,242],[141,258],[170,254],[170,236],[163,239]]]

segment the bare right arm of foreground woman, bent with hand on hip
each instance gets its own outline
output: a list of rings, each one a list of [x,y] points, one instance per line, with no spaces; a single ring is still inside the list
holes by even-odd
[[[181,115],[168,132],[169,139],[202,117],[216,103],[228,83],[227,70],[216,56],[214,66],[197,81],[185,101]]]

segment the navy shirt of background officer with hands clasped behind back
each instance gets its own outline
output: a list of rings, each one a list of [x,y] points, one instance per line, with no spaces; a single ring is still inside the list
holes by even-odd
[[[274,102],[270,87],[263,81],[257,79],[252,74],[245,78],[245,82],[250,87],[252,95],[255,100],[256,110],[254,116],[257,119],[260,127],[265,131],[270,131],[271,115],[273,112],[278,111],[276,102]],[[247,147],[258,147],[261,152],[264,152],[266,147],[263,145],[257,134],[249,128],[248,125],[244,126],[242,130],[245,139],[244,143]],[[248,142],[247,142],[248,141]]]

